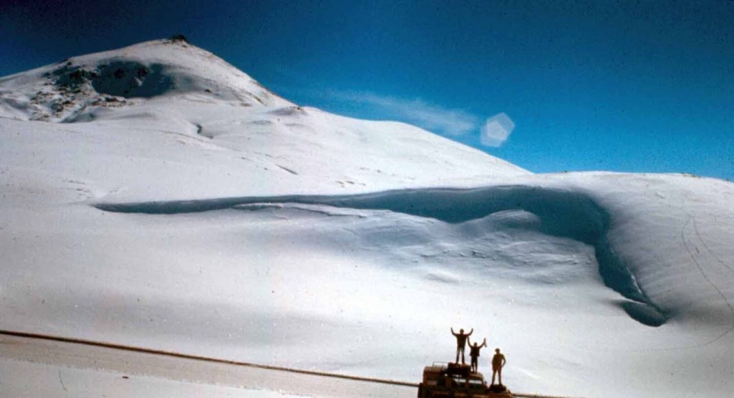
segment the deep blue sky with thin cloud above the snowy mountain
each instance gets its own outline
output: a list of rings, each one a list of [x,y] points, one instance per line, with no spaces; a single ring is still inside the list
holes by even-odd
[[[178,32],[288,100],[533,172],[734,180],[729,0],[0,0],[0,75]]]

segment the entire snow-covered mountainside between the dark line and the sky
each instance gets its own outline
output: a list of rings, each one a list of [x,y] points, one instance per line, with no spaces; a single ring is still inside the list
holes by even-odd
[[[0,79],[0,327],[417,382],[728,397],[734,184],[531,174],[160,40]]]

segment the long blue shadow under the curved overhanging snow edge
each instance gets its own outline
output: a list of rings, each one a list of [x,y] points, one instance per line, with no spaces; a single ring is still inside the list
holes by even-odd
[[[168,202],[93,204],[100,210],[115,213],[179,214],[242,208],[252,204],[321,204],[435,218],[450,224],[484,218],[506,210],[523,210],[539,218],[531,228],[557,237],[568,237],[594,247],[599,273],[607,287],[631,301],[621,303],[634,320],[644,325],[660,326],[668,320],[637,284],[631,270],[614,253],[607,240],[610,218],[606,210],[579,191],[539,186],[505,185],[476,189],[405,189],[375,194],[344,196],[290,195],[270,197],[233,197]]]

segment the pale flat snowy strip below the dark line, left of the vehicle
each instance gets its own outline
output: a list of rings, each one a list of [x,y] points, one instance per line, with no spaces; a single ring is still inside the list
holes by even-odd
[[[0,397],[415,395],[413,386],[59,340],[0,333]]]

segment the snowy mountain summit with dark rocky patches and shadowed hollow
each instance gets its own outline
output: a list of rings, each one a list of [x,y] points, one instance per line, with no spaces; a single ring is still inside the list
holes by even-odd
[[[240,106],[292,105],[214,54],[180,39],[75,56],[7,76],[0,86],[0,114],[60,122],[90,119],[95,108],[130,106],[132,98],[189,95]]]

